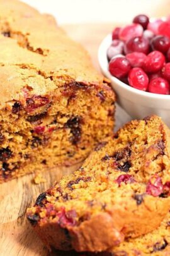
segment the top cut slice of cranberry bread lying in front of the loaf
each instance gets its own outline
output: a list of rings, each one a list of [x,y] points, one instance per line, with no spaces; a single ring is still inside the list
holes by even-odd
[[[159,226],[169,206],[170,131],[132,121],[42,193],[28,220],[48,248],[105,251]]]

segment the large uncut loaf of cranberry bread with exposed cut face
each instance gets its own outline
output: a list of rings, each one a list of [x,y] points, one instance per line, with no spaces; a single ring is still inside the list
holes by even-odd
[[[113,90],[51,16],[0,0],[0,59],[0,183],[80,162],[113,131]]]

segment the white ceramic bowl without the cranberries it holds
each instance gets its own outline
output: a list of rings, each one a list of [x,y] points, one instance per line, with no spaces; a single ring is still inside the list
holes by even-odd
[[[108,59],[106,51],[111,44],[111,34],[101,42],[98,51],[99,65],[103,74],[111,80],[111,85],[116,92],[118,104],[132,116],[142,119],[151,114],[161,116],[164,122],[170,126],[170,95],[151,94],[137,90],[112,76],[108,71]]]

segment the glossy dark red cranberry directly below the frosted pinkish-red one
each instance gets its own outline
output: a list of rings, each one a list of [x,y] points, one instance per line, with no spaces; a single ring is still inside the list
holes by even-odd
[[[149,40],[144,37],[133,37],[125,44],[124,51],[126,54],[130,52],[143,52],[148,54],[149,52]]]

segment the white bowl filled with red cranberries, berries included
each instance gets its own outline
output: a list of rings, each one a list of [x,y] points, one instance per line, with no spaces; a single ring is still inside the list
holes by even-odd
[[[162,116],[170,125],[170,18],[137,15],[116,27],[98,51],[120,106],[132,118]]]

